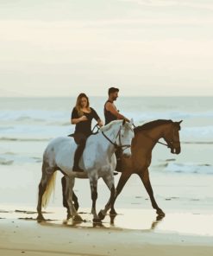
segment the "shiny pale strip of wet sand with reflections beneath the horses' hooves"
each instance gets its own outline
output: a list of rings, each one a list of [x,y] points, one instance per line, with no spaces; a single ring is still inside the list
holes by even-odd
[[[152,210],[120,208],[117,214],[106,216],[102,223],[94,223],[89,209],[81,211],[83,221],[65,220],[64,210],[53,208],[44,212],[45,221],[37,221],[33,210],[1,210],[0,219],[36,221],[42,226],[104,228],[112,230],[140,230],[153,233],[175,232],[213,236],[213,214],[202,212],[167,212],[165,217],[156,216]]]

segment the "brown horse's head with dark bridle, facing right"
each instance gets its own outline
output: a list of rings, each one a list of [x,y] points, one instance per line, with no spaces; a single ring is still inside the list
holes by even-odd
[[[172,122],[172,124],[169,125],[168,131],[164,134],[164,139],[171,149],[172,154],[180,153],[179,131],[181,122],[182,120],[179,122]]]

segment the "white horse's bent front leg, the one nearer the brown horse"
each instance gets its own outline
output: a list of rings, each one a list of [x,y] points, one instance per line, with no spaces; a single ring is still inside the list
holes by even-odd
[[[110,189],[110,200],[105,205],[105,208],[103,210],[100,210],[98,216],[101,220],[103,220],[110,209],[113,202],[115,202],[115,196],[116,196],[116,189],[115,189],[115,183],[114,183],[114,176],[110,173],[108,176],[103,177],[103,181],[106,183],[108,189]]]

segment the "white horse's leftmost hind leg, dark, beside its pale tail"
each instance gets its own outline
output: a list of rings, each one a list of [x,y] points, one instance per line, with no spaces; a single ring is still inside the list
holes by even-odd
[[[47,189],[47,183],[50,181],[50,178],[53,176],[54,169],[48,167],[46,163],[43,163],[42,165],[42,176],[41,176],[41,182],[39,184],[39,198],[38,198],[38,204],[37,204],[37,220],[44,220],[44,217],[41,213],[41,204],[42,204],[42,196],[45,193],[45,190]]]

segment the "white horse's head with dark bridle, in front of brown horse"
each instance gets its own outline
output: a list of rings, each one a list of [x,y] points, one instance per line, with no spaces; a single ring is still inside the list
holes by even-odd
[[[131,143],[134,136],[133,119],[130,122],[123,120],[116,136],[117,149],[122,150],[123,157],[131,156]]]

